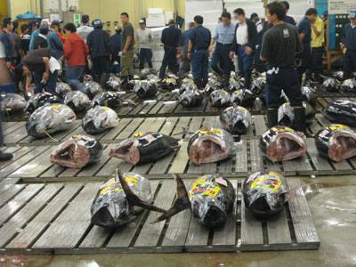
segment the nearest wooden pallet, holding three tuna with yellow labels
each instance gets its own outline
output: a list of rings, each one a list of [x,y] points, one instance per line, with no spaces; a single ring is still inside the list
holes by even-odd
[[[90,206],[99,183],[12,185],[0,195],[0,253],[236,252],[320,247],[302,189],[291,193],[281,214],[258,221],[244,206],[241,181],[231,182],[238,201],[228,222],[216,230],[198,224],[186,210],[155,224],[151,222],[158,213],[143,211],[117,231],[106,231],[90,222]],[[288,185],[297,188],[301,182],[288,179]],[[169,208],[174,201],[175,182],[152,182],[151,187],[154,204]]]

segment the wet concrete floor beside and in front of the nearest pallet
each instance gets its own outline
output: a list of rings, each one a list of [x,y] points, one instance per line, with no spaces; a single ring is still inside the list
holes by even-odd
[[[167,255],[0,256],[0,266],[356,266],[356,176],[303,178],[320,237],[315,251]]]

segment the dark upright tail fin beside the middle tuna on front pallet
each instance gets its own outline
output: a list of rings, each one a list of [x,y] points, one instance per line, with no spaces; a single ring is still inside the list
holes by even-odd
[[[175,182],[177,183],[177,197],[174,200],[174,205],[168,211],[166,211],[166,213],[159,216],[158,219],[153,223],[159,223],[172,217],[175,214],[179,214],[187,208],[190,209],[190,199],[188,197],[188,191],[185,188],[184,182],[182,181],[182,178],[178,176],[178,174],[173,175]]]

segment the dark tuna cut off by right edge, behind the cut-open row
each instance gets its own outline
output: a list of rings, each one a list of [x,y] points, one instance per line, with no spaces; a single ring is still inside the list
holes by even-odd
[[[323,114],[329,121],[356,127],[356,102],[337,100],[328,104]]]

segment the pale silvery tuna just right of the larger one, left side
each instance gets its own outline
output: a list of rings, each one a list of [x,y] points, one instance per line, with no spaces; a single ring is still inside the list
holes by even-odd
[[[82,120],[82,127],[87,134],[100,134],[117,125],[117,113],[108,107],[96,106],[89,109]]]

